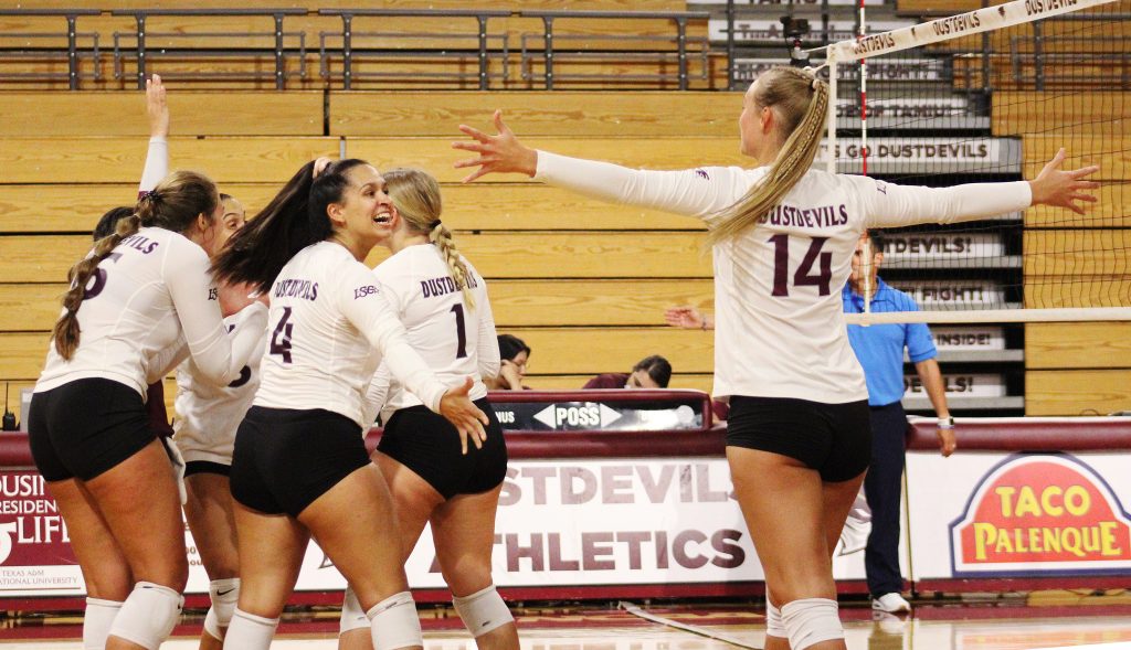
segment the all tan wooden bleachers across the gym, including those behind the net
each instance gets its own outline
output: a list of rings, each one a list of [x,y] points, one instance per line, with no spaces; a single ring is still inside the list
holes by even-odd
[[[16,5],[0,0],[0,9]],[[54,8],[46,0],[18,3],[24,8]],[[148,8],[153,2],[126,0],[115,7]],[[373,3],[370,3],[373,5]],[[899,10],[927,11],[939,2],[899,0]],[[102,8],[94,0],[68,2],[69,7]],[[173,0],[163,8],[226,8],[219,0]],[[254,0],[242,3],[249,8],[309,7],[296,0],[269,2]],[[329,0],[321,8],[355,8],[355,2]],[[374,5],[375,6],[375,5]],[[466,8],[455,0],[391,0],[380,8]],[[503,0],[492,8],[513,12],[558,9],[555,0]],[[571,2],[573,9],[682,11],[683,2],[672,0],[582,0]],[[975,7],[970,7],[975,8]],[[948,12],[957,10],[946,3]],[[53,19],[62,25],[59,18]],[[223,31],[262,31],[270,19],[235,18]],[[33,24],[34,23],[34,24]],[[7,46],[5,34],[38,29],[42,23],[0,17],[0,47]],[[85,27],[84,27],[85,25]],[[365,36],[359,19],[355,45],[370,54],[397,50],[430,50],[437,43],[429,37],[413,41]],[[1067,25],[1067,26],[1065,26]],[[1056,53],[1065,41],[1070,24],[1050,24],[1046,52]],[[207,19],[199,17],[153,18],[148,23],[150,46],[183,46],[184,38],[161,36],[163,33],[193,34],[210,31]],[[1121,27],[1126,28],[1126,25]],[[8,388],[12,405],[18,404],[18,389],[31,385],[43,362],[48,331],[58,314],[58,296],[70,265],[88,246],[86,234],[96,218],[109,207],[131,203],[146,150],[146,120],[143,99],[135,89],[132,63],[126,61],[121,78],[114,78],[113,33],[124,43],[136,29],[133,19],[107,14],[83,18],[79,32],[101,34],[101,80],[89,78],[89,59],[80,60],[86,73],[81,88],[107,92],[43,92],[43,88],[66,88],[66,60],[52,59],[44,69],[62,71],[63,77],[50,83],[28,80],[6,83],[6,88],[20,86],[23,92],[6,92],[5,120],[0,121],[0,381],[11,381]],[[608,159],[632,166],[684,168],[709,162],[718,165],[749,165],[737,153],[735,121],[741,110],[737,93],[690,92],[671,93],[672,83],[641,87],[664,90],[581,92],[568,81],[555,84],[554,92],[543,87],[539,68],[528,62],[524,68],[520,55],[521,37],[541,34],[536,18],[512,14],[492,18],[487,32],[508,37],[511,55],[503,62],[490,60],[492,88],[523,89],[510,93],[498,89],[487,93],[475,88],[474,60],[461,63],[467,79],[459,83],[413,77],[438,71],[447,63],[428,57],[399,55],[360,57],[354,71],[361,88],[414,88],[413,90],[345,92],[342,90],[340,60],[330,58],[330,75],[319,72],[318,44],[322,33],[327,42],[337,34],[342,21],[334,16],[288,17],[285,31],[305,34],[305,57],[287,57],[287,70],[296,71],[305,62],[307,77],[290,77],[285,92],[275,92],[270,78],[274,61],[257,53],[247,59],[205,59],[198,55],[183,61],[154,59],[154,69],[172,72],[170,103],[173,113],[171,154],[174,167],[198,168],[211,174],[225,191],[240,198],[253,213],[264,206],[304,162],[318,155],[346,155],[372,161],[381,168],[409,165],[435,174],[443,183],[444,222],[452,227],[459,246],[487,277],[492,304],[500,331],[516,333],[534,348],[532,376],[528,383],[537,388],[579,388],[599,372],[625,371],[647,354],[667,356],[675,366],[672,385],[708,389],[711,371],[711,337],[703,332],[685,332],[663,326],[663,309],[673,304],[696,304],[709,309],[711,301],[709,254],[701,251],[702,227],[693,219],[651,210],[608,206],[556,190],[521,177],[489,177],[473,185],[461,185],[466,172],[452,163],[466,157],[450,148],[460,136],[459,123],[489,127],[490,114],[501,107],[511,125],[533,146],[563,154]],[[615,20],[555,20],[555,38],[562,46],[572,36],[608,36],[623,33],[625,25]],[[698,29],[698,31],[697,31]],[[693,27],[690,36],[702,34],[705,25]],[[214,29],[213,29],[214,31]],[[455,25],[420,26],[408,20],[389,19],[373,31],[398,33],[463,32]],[[664,40],[671,25],[663,20],[634,23],[633,33],[641,41],[624,41],[621,50],[667,51],[672,43]],[[1121,32],[1122,33],[1122,32]],[[1008,52],[1010,38],[1024,37],[1024,29],[1003,34],[1001,43]],[[1131,34],[1126,34],[1131,35]],[[166,38],[162,41],[162,38]],[[577,42],[573,53],[599,49]],[[204,43],[198,42],[197,44]],[[605,41],[607,45],[607,41]],[[970,41],[974,44],[974,41]],[[249,40],[245,46],[269,47],[267,36]],[[976,44],[975,44],[976,45]],[[973,46],[973,45],[972,45]],[[331,45],[333,47],[333,45]],[[1019,45],[1029,53],[1027,45]],[[497,45],[492,45],[493,57]],[[1114,51],[1113,51],[1114,52]],[[157,61],[161,61],[157,63]],[[258,61],[258,62],[257,62]],[[533,59],[532,59],[533,61]],[[955,84],[961,87],[981,85],[981,60],[960,59]],[[262,79],[217,80],[208,75],[216,71],[240,71],[251,66],[265,73]],[[33,62],[27,62],[33,66]],[[708,60],[708,81],[694,81],[692,87],[725,86],[725,59]],[[560,67],[559,67],[560,66]],[[613,72],[620,77],[670,73],[674,62],[657,67],[625,58],[610,63],[599,58],[563,57],[555,66],[563,78],[571,73]],[[692,58],[692,77],[697,75]],[[1024,79],[1034,71],[1021,67]],[[506,68],[507,80],[501,81]],[[31,68],[28,68],[31,69]],[[8,70],[8,68],[5,68]],[[208,89],[192,90],[195,83],[175,80],[176,72],[207,72]],[[405,72],[400,80],[364,81],[365,72]],[[527,73],[524,78],[524,71]],[[999,55],[992,66],[993,86],[998,89],[1031,90],[1029,81],[1015,83],[1008,55]],[[2,72],[2,70],[0,70]],[[1117,66],[1097,63],[1099,79],[1125,76]],[[606,75],[607,76],[607,75]],[[498,83],[498,84],[497,84]],[[598,89],[606,81],[575,81],[573,87]],[[946,80],[942,81],[946,84]],[[877,86],[879,87],[879,86]],[[1108,85],[1107,89],[1115,87]],[[221,90],[219,88],[227,88]],[[421,88],[429,88],[421,92]],[[459,89],[457,89],[459,88]],[[533,89],[532,89],[533,88]],[[114,90],[114,92],[109,92]],[[128,92],[122,92],[128,90]],[[870,92],[872,88],[870,88]],[[994,94],[993,133],[999,137],[1022,136],[1026,175],[1033,175],[1059,147],[1063,120],[1057,114],[1070,112],[1072,122],[1094,120],[1106,124],[1090,141],[1070,151],[1067,166],[1102,165],[1099,176],[1105,187],[1100,202],[1086,218],[1076,218],[1064,210],[1037,208],[1026,211],[1028,227],[1070,227],[1094,251],[1087,255],[1062,255],[1024,267],[1030,283],[1026,287],[1028,304],[1064,306],[1108,306],[1123,300],[1112,291],[1113,281],[1131,286],[1131,271],[1125,257],[1126,233],[1131,217],[1120,205],[1131,183],[1128,161],[1128,136],[1112,132],[1115,116],[1111,94],[1067,94],[1059,88],[1050,95],[1034,96],[1020,92]],[[878,96],[880,94],[878,93]],[[870,95],[871,97],[871,95]],[[1119,105],[1125,106],[1125,102]],[[1038,107],[1039,106],[1039,107]],[[1124,121],[1131,115],[1123,114]],[[1098,127],[1097,127],[1098,128]],[[1079,128],[1076,128],[1077,132]],[[1104,228],[1095,226],[1103,225]],[[1037,229],[1027,235],[1027,246],[1046,245],[1059,231]],[[1105,252],[1106,251],[1106,252]],[[369,260],[375,262],[380,252]],[[1053,279],[1060,279],[1056,284]],[[1113,279],[1114,278],[1114,279]],[[1131,302],[1131,296],[1126,297]],[[1128,302],[1122,304],[1126,305]],[[1115,404],[1125,400],[1125,385],[1131,362],[1126,359],[1126,324],[1103,326],[1029,326],[1026,349],[1026,397],[1030,414],[1064,414],[1071,410],[1057,389],[1065,381],[1079,388],[1079,400]],[[1094,341],[1081,346],[1078,341]],[[1031,345],[1030,345],[1031,344]],[[1088,393],[1085,396],[1083,393]],[[167,391],[173,395],[172,390]],[[1078,400],[1078,401],[1079,401]],[[1091,402],[1089,402],[1091,404]],[[1098,408],[1098,407],[1097,407]]]

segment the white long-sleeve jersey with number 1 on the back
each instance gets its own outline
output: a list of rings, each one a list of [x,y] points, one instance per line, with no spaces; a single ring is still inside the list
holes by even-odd
[[[448,265],[432,244],[407,246],[373,269],[381,295],[408,332],[408,343],[449,385],[472,376],[468,397],[486,397],[484,376],[499,374],[499,338],[487,298],[486,283],[466,259],[468,289],[475,306],[450,277]],[[381,365],[373,378],[368,411],[418,406],[420,398],[390,376]]]

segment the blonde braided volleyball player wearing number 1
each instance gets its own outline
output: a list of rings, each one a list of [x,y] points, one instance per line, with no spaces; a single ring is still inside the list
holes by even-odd
[[[392,493],[402,562],[431,522],[440,571],[478,648],[517,650],[515,619],[491,579],[507,447],[483,384],[500,365],[486,283],[440,220],[435,179],[418,170],[391,170],[383,176],[391,205],[381,213],[380,244],[392,257],[373,269],[377,286],[404,323],[408,343],[441,380],[475,379],[469,397],[490,419],[482,449],[465,452],[450,423],[379,369],[370,400],[391,415],[382,418],[385,433],[373,459]],[[347,590],[338,647],[372,649],[362,631],[369,631],[369,621]]]

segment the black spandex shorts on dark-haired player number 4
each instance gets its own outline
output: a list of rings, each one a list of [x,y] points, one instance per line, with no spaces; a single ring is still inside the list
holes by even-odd
[[[235,433],[232,497],[267,514],[297,518],[369,462],[361,427],[344,415],[253,406]]]

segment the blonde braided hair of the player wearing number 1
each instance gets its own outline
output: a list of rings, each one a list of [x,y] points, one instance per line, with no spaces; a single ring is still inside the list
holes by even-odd
[[[456,248],[451,231],[440,220],[440,213],[443,210],[440,183],[420,170],[389,170],[382,176],[385,176],[385,191],[392,199],[397,213],[405,219],[409,229],[428,234],[429,241],[434,243],[443,255],[451,279],[464,293],[464,302],[468,309],[475,309],[475,301],[468,287],[470,271],[467,270],[467,265]]]

